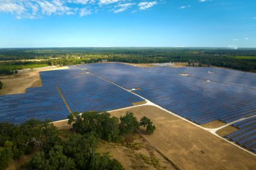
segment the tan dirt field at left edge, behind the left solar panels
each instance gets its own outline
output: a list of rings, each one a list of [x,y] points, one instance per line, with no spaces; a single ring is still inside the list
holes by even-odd
[[[67,68],[69,67],[57,67],[55,69],[47,69],[42,71],[52,71]],[[42,87],[39,71],[0,76],[0,81],[3,83],[3,89],[0,90],[0,95],[26,93],[26,89],[29,87]]]

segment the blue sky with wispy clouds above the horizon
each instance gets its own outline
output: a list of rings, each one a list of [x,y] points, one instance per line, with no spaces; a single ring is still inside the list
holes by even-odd
[[[0,48],[87,46],[256,48],[256,0],[0,0]]]

